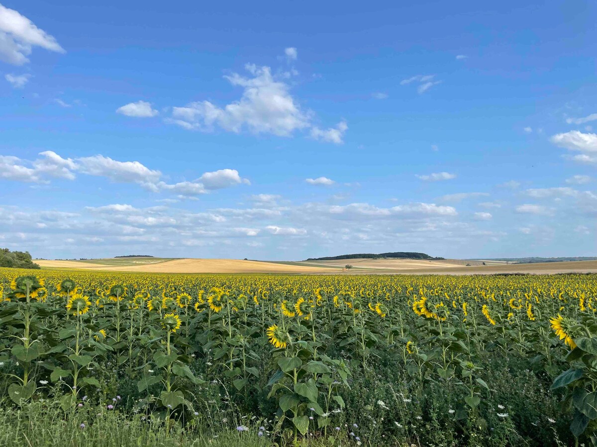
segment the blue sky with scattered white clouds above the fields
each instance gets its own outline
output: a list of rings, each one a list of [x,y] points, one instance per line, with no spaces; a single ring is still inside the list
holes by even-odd
[[[0,1],[0,246],[597,252],[594,2]]]

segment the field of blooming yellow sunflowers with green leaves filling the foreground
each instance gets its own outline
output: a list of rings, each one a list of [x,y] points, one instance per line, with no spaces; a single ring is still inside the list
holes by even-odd
[[[597,445],[597,275],[0,269],[0,287],[7,414],[255,445]]]

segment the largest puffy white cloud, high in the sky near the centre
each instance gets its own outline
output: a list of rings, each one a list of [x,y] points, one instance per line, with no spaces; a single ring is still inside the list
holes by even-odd
[[[225,76],[233,86],[244,89],[240,100],[222,108],[210,101],[173,107],[168,122],[189,130],[210,131],[217,125],[229,132],[238,133],[246,127],[255,134],[278,136],[309,127],[309,114],[300,110],[286,83],[273,79],[269,67],[247,64],[245,68],[253,77]]]

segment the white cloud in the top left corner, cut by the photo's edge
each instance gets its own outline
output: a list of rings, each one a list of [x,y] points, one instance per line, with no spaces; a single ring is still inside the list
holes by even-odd
[[[13,65],[29,62],[33,46],[63,53],[53,36],[39,29],[27,17],[0,4],[0,60]]]

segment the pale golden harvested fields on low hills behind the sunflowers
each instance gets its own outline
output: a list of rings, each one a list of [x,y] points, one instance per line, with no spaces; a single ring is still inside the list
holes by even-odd
[[[43,268],[85,269],[124,272],[155,273],[279,273],[279,274],[447,274],[472,275],[496,273],[589,273],[597,272],[597,260],[574,262],[545,262],[536,264],[510,264],[499,261],[445,259],[343,259],[328,261],[299,261],[276,263],[240,259],[168,259],[153,263],[130,265],[122,260],[36,260]],[[110,265],[113,262],[114,265]],[[470,266],[466,266],[469,263]],[[346,264],[353,266],[344,271]]]

